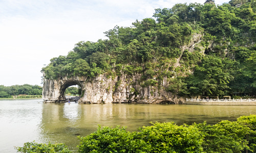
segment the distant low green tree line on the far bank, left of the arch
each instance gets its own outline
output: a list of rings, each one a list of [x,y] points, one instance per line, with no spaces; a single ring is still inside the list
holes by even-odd
[[[18,95],[42,95],[42,87],[38,85],[14,85],[14,86],[3,86],[0,85],[0,97],[9,98],[17,97]],[[33,96],[32,96],[33,97]]]

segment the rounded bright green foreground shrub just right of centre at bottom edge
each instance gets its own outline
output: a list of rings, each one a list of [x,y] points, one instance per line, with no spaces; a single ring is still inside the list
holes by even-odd
[[[150,152],[202,152],[203,136],[193,125],[178,126],[173,122],[143,126],[140,138],[151,148]]]

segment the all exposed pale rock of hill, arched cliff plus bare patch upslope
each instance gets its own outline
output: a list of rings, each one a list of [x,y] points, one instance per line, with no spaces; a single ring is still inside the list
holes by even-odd
[[[191,41],[181,46],[182,52],[187,49],[193,52],[194,47],[201,47],[202,35],[195,34]],[[205,48],[200,48],[202,52]],[[180,57],[181,58],[181,57]],[[173,65],[180,66],[177,59]],[[78,103],[141,103],[141,104],[182,104],[185,99],[166,91],[167,78],[163,78],[154,86],[141,85],[141,73],[127,75],[123,72],[119,76],[108,77],[101,74],[95,78],[60,78],[59,80],[44,80],[43,99],[46,103],[66,101],[65,90],[71,85],[79,85],[82,89]]]

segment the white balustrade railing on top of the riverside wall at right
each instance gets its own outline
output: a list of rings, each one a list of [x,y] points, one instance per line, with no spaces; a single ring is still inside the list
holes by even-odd
[[[248,99],[227,99],[227,98],[225,98],[225,99],[212,99],[212,98],[210,98],[210,99],[205,99],[205,98],[203,98],[203,99],[193,99],[193,98],[186,98],[186,101],[188,102],[188,101],[190,101],[190,102],[256,102],[256,99],[250,99],[250,98],[248,98]]]

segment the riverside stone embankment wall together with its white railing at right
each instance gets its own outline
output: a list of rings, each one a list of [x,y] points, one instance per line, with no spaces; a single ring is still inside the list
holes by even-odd
[[[256,105],[256,99],[186,98],[185,104],[188,104],[188,105]]]

